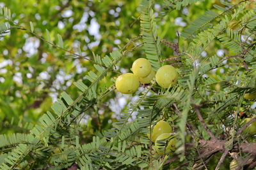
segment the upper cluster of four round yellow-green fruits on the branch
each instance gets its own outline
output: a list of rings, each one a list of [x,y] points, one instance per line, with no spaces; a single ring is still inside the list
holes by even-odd
[[[178,78],[178,73],[173,66],[165,65],[157,72],[152,69],[147,59],[140,58],[133,62],[132,73],[125,73],[116,79],[116,89],[123,94],[132,94],[138,90],[140,83],[148,84],[154,77],[157,83],[163,87],[172,87]]]

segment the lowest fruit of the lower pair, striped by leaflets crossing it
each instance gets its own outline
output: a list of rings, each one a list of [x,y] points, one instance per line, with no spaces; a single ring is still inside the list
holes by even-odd
[[[170,139],[170,141],[168,141],[167,139],[170,138],[170,136],[171,136],[171,134],[164,133],[164,134],[159,135],[156,138],[156,144],[155,144],[156,152],[159,155],[163,155],[164,153],[168,154],[168,153],[170,153],[170,152],[175,150],[175,145],[177,143],[177,139],[176,138],[172,138],[172,139]],[[164,140],[164,139],[166,140],[166,142],[168,141],[168,144],[166,144],[165,146],[163,146],[164,141],[161,141],[161,140]],[[165,152],[164,152],[164,148],[165,148]]]

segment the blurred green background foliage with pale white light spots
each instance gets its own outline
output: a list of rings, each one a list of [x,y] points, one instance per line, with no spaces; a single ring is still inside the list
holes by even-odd
[[[230,1],[234,4],[238,2]],[[77,53],[78,46],[81,46],[83,57],[74,57],[60,48],[54,48],[21,29],[12,29],[3,36],[0,39],[0,133],[27,132],[32,127],[30,123],[35,123],[45,111],[51,110],[51,104],[63,90],[77,97],[78,92],[72,83],[77,80],[86,82],[86,72],[94,69],[90,62],[93,53],[103,57],[118,46],[125,46],[129,39],[140,36],[139,4],[138,0],[2,0],[0,6],[10,8],[15,22],[28,29],[29,22],[32,22],[35,34],[45,39],[48,30],[54,43],[58,42],[57,34],[60,34],[64,48]],[[179,41],[180,51],[188,48],[188,42],[179,39],[177,32],[182,32],[206,10],[216,11],[214,4],[223,6],[220,1],[198,1],[175,10],[170,1],[156,1],[154,10],[160,38],[174,43]],[[234,23],[230,27],[235,29],[239,24]],[[129,44],[127,49],[140,43],[139,39]],[[219,57],[232,55],[220,43],[212,43],[210,47],[202,52],[203,56],[215,53]],[[162,54],[163,58],[172,57],[173,50],[162,46]],[[129,72],[132,62],[143,56],[143,49],[137,48],[116,66],[116,70]],[[225,69],[228,67],[209,74],[223,77]],[[109,87],[113,76],[116,76],[114,71],[108,73],[100,86]],[[210,88],[218,91],[220,85]],[[84,139],[90,140],[95,132],[108,129],[127,103],[138,98],[138,93],[131,96],[112,92],[102,99],[100,106],[95,107],[99,110],[81,119],[86,134]]]

